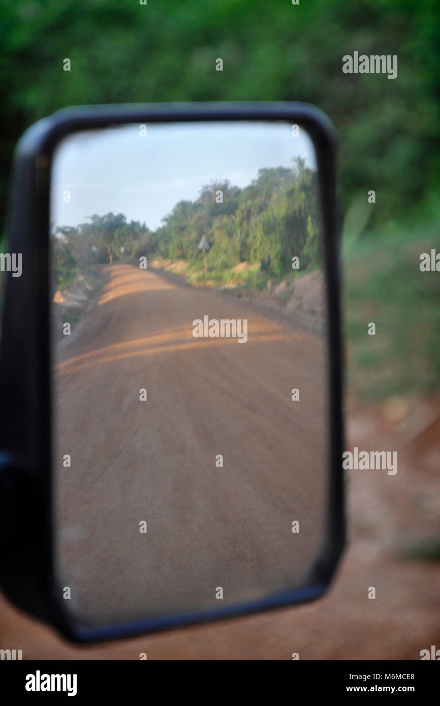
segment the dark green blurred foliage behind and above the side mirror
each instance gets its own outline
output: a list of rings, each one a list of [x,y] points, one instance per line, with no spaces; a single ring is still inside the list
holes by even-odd
[[[377,223],[438,184],[437,0],[4,0],[0,27],[0,217],[20,133],[74,104],[303,100],[338,129],[343,208],[375,189]],[[398,77],[344,74],[355,50]]]

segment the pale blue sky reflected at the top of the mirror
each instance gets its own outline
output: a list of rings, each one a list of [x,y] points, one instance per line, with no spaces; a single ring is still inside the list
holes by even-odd
[[[155,230],[211,180],[244,187],[258,169],[292,167],[297,156],[316,169],[311,139],[302,128],[293,137],[287,123],[148,124],[145,137],[139,124],[73,133],[54,155],[51,222],[76,227],[112,212]]]

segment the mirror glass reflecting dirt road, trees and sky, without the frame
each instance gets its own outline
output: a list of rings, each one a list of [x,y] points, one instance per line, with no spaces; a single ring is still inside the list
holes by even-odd
[[[320,217],[314,146],[288,124],[59,144],[54,550],[81,626],[307,585],[328,487]]]

